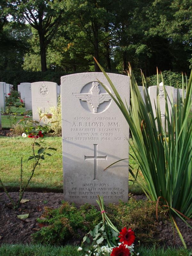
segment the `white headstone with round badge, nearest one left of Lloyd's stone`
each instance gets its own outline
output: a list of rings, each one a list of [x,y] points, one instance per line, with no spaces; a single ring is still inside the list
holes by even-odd
[[[50,107],[57,107],[57,84],[35,82],[31,84],[33,120],[39,121],[38,110],[48,113]]]

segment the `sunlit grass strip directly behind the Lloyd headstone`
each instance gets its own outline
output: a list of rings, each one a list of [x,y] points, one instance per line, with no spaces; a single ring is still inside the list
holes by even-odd
[[[27,180],[31,173],[33,161],[27,161],[31,156],[30,138],[19,137],[0,137],[0,177],[4,184],[13,189],[19,188],[20,180],[20,160],[23,157],[23,180]],[[41,165],[37,167],[28,188],[48,188],[52,190],[63,189],[63,172],[62,172],[62,139],[61,137],[46,137],[47,146],[57,148],[57,151],[50,152],[52,156],[45,157]],[[130,153],[131,148],[130,148]],[[137,170],[138,164],[130,159],[130,164]],[[130,179],[132,179],[130,174]],[[139,180],[142,177],[139,175]],[[138,185],[132,186],[130,182],[129,190],[131,193],[141,193]]]

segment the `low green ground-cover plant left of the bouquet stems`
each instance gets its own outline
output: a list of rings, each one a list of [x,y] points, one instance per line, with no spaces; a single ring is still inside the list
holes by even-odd
[[[101,214],[94,206],[84,204],[78,209],[74,204],[64,202],[60,208],[52,210],[45,208],[45,212],[39,218],[39,223],[47,224],[32,235],[35,242],[41,244],[65,244],[75,236],[79,238],[78,229],[86,232],[93,228],[101,220]]]

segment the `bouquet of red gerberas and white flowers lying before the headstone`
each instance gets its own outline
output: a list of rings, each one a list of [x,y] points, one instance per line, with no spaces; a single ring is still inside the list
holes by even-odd
[[[84,236],[77,251],[84,252],[84,256],[139,255],[134,252],[135,235],[131,228],[124,227],[119,232],[105,212],[103,197],[98,196],[96,201],[100,206],[102,221]]]

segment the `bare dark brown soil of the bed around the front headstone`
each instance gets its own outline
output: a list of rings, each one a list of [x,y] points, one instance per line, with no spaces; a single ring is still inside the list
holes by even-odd
[[[19,193],[10,193],[13,199],[17,199]],[[134,196],[137,200],[145,199],[145,196]],[[0,193],[0,245],[8,244],[30,244],[31,234],[39,229],[36,219],[44,212],[44,207],[57,208],[63,200],[62,193],[37,193],[25,192],[23,199],[29,199],[29,202],[21,204],[17,211],[13,211],[5,206],[9,200],[4,192]],[[17,215],[29,213],[29,217],[25,220],[20,220]],[[176,219],[184,241],[188,247],[192,247],[192,230],[180,219]],[[192,221],[189,223],[192,225]],[[35,229],[34,229],[35,228]],[[173,236],[172,224],[168,221],[156,223],[157,235],[156,238],[165,246],[182,246],[180,238],[175,230],[175,239]],[[73,241],[73,244],[78,244],[79,241]]]

